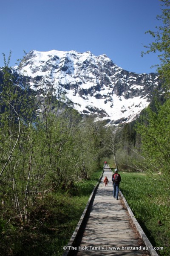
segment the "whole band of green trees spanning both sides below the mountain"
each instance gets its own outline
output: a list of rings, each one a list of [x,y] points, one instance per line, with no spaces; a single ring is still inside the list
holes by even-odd
[[[71,191],[104,157],[119,170],[155,172],[168,182],[169,100],[155,98],[136,121],[107,126],[57,101],[50,86],[34,95],[16,84],[8,67],[2,73],[0,201],[6,219],[27,223],[40,197]]]

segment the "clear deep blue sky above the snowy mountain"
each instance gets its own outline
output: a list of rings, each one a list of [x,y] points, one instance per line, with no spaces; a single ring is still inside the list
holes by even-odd
[[[155,72],[157,54],[141,57],[144,34],[159,26],[159,0],[0,0],[0,67],[3,54],[10,66],[24,50],[91,51],[136,73]]]

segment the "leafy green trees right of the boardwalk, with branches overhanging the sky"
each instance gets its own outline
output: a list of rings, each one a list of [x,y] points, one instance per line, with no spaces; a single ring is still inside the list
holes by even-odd
[[[147,51],[142,52],[142,56],[159,52],[157,70],[164,92],[161,93],[158,88],[153,101],[137,122],[127,124],[122,129],[129,150],[119,162],[127,163],[127,169],[159,174],[162,186],[170,189],[170,0],[160,0],[160,3],[161,15],[157,15],[160,26],[155,31],[146,32],[153,37],[153,42],[144,46]],[[166,204],[169,204],[168,199]]]

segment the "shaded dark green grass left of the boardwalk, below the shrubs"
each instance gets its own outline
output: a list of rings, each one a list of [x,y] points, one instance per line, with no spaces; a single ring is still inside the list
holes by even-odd
[[[90,180],[76,183],[69,193],[56,192],[42,198],[29,224],[23,227],[0,220],[0,255],[61,256],[101,173],[102,169]]]

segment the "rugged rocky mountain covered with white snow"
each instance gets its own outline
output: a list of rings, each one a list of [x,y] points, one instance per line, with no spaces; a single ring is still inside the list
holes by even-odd
[[[19,72],[17,67],[14,67]],[[21,63],[20,73],[31,89],[48,87],[53,94],[82,114],[131,122],[146,108],[159,86],[155,73],[136,74],[116,66],[105,54],[32,50]]]

